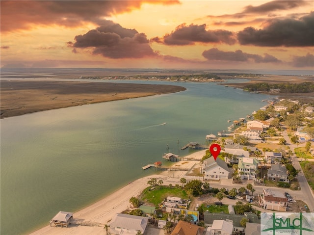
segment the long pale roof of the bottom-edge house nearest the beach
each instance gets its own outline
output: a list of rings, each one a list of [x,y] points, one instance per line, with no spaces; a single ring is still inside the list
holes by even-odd
[[[118,213],[114,220],[110,223],[110,227],[121,227],[125,229],[144,231],[146,229],[147,222],[148,217]]]

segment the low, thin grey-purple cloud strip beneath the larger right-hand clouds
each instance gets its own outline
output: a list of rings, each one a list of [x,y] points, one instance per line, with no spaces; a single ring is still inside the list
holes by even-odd
[[[245,53],[242,52],[241,50],[236,50],[235,52],[223,52],[219,51],[217,48],[212,48],[209,49],[208,51],[204,51],[202,55],[208,60],[240,61],[240,62],[253,60],[256,63],[281,62],[276,57],[270,54],[265,54],[265,56],[262,57],[261,55]]]

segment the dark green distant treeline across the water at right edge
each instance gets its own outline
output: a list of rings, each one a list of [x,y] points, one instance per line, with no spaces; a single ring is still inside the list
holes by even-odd
[[[280,93],[307,93],[314,92],[313,82],[302,83],[279,83],[268,84],[266,82],[249,84],[244,87],[248,91],[271,91],[271,89],[278,89]]]

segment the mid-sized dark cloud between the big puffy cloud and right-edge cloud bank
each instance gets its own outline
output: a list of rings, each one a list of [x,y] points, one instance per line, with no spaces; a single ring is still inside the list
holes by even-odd
[[[182,24],[170,34],[160,38],[154,38],[152,41],[163,42],[166,45],[194,45],[199,43],[226,43],[235,44],[234,33],[227,30],[206,30],[206,25]]]

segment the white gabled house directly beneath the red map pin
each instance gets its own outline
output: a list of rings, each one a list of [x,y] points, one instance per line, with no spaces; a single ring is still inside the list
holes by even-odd
[[[229,178],[227,163],[219,157],[217,157],[216,160],[213,157],[205,159],[202,168],[204,179],[220,180]]]

